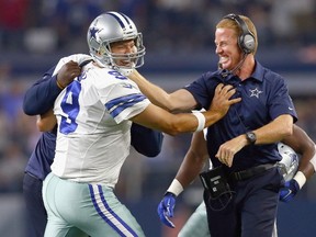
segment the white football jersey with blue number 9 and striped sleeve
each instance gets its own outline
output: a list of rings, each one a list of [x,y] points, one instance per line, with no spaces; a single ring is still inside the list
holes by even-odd
[[[135,82],[114,69],[84,66],[55,101],[58,133],[52,171],[76,182],[114,187],[129,154],[128,119],[149,103]]]

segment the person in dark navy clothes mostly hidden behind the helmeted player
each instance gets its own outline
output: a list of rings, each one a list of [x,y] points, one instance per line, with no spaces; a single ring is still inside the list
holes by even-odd
[[[63,88],[60,81],[67,86],[81,74],[81,67],[91,60],[91,56],[76,54],[67,58],[67,63],[58,74],[53,76],[55,67],[49,69],[25,92],[23,110],[27,115],[40,115],[54,106],[54,101]],[[57,79],[58,78],[58,79]],[[42,198],[42,185],[45,177],[50,172],[50,165],[55,156],[56,127],[44,132],[29,159],[23,178],[23,198],[27,215],[27,236],[43,237],[47,213]],[[131,145],[142,155],[155,157],[161,150],[163,135],[142,125],[132,124]]]

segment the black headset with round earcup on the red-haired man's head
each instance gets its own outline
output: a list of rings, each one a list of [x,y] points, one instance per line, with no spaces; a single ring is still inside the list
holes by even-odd
[[[256,41],[253,34],[249,31],[245,21],[237,14],[228,14],[224,19],[229,19],[235,21],[241,29],[242,33],[238,36],[238,45],[245,54],[250,54],[255,50]]]

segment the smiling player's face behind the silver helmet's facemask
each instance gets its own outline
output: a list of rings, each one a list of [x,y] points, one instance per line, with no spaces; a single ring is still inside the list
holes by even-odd
[[[115,64],[117,66],[128,67],[131,66],[133,59],[131,61],[131,58],[128,58],[127,55],[137,53],[137,47],[134,40],[127,40],[112,43],[111,52],[112,54],[115,54],[115,56],[120,56],[117,59],[115,59]]]

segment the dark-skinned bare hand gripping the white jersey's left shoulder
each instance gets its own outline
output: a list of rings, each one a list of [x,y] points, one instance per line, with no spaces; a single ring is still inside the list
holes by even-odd
[[[65,88],[69,83],[71,83],[74,79],[78,77],[80,74],[81,74],[81,68],[79,67],[79,65],[76,61],[70,60],[67,64],[65,64],[58,71],[58,75],[57,75],[58,83],[63,88]]]

